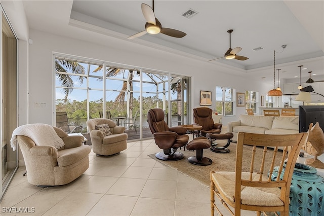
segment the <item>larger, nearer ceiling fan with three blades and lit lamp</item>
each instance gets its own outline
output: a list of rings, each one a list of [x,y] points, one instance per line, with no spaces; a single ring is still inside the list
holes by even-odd
[[[144,15],[144,18],[147,21],[145,24],[145,30],[138,32],[134,35],[131,35],[130,37],[128,37],[128,39],[138,38],[143,36],[146,33],[150,33],[150,34],[163,33],[175,38],[185,37],[186,33],[182,31],[172,29],[172,28],[162,27],[161,23],[155,18],[154,15],[154,0],[153,0],[153,9],[150,6],[142,3],[142,13]]]

